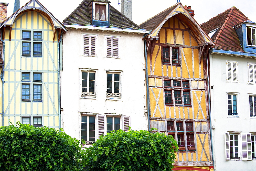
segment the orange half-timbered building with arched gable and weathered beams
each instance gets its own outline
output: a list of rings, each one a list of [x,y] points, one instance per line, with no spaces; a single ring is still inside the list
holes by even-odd
[[[178,143],[174,170],[213,170],[207,54],[214,42],[180,2],[142,23],[150,127]]]

